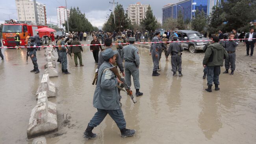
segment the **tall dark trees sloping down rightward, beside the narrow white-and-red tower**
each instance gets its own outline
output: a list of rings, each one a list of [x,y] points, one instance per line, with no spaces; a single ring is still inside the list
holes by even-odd
[[[67,27],[67,21],[64,23]],[[70,9],[69,15],[69,31],[96,31],[98,28],[93,25],[85,18],[85,14],[81,13],[79,8]]]

